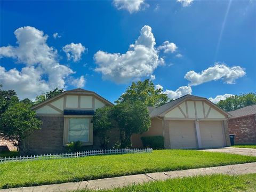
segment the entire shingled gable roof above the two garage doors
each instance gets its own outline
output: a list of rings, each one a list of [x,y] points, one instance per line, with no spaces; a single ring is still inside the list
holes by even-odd
[[[218,106],[216,106],[214,103],[212,103],[208,99],[203,98],[203,97],[198,97],[196,95],[190,95],[190,94],[184,95],[178,99],[167,102],[162,106],[156,107],[151,112],[149,111],[149,116],[150,116],[150,118],[161,116],[163,113],[165,113],[165,111],[167,111],[171,108],[174,108],[175,106],[179,105],[180,103],[182,103],[183,101],[188,100],[188,99],[205,100],[206,102],[210,102],[211,105],[214,105],[215,107],[217,107],[220,111],[222,111],[223,114],[230,116],[230,114],[228,114],[226,111],[224,111],[221,108],[219,108]]]

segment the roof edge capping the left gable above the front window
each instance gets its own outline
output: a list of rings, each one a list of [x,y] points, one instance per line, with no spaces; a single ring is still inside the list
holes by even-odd
[[[58,94],[58,95],[55,95],[54,97],[50,98],[50,99],[47,99],[41,103],[38,103],[37,105],[31,107],[31,109],[37,109],[38,107],[44,105],[45,103],[48,103],[52,100],[55,100],[56,98],[59,98],[61,97],[62,95],[65,95],[65,94],[91,94],[91,95],[94,95],[96,98],[106,102],[108,105],[110,106],[114,106],[113,103],[111,103],[110,101],[108,101],[107,99],[101,97],[99,94],[93,92],[93,91],[89,91],[89,90],[84,90],[84,89],[81,89],[81,88],[77,88],[77,89],[73,89],[73,90],[67,90],[67,91],[63,91],[62,93]]]

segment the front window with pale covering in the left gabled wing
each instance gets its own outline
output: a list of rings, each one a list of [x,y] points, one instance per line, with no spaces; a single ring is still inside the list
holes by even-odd
[[[89,118],[69,118],[68,141],[89,141]]]

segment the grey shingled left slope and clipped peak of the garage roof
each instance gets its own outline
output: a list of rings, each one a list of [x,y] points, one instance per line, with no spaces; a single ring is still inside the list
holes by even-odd
[[[184,95],[183,97],[180,97],[178,99],[175,99],[173,101],[170,101],[170,102],[167,102],[165,103],[164,105],[162,106],[159,106],[159,107],[156,107],[155,109],[153,109],[151,111],[151,113],[149,114],[150,117],[156,117],[162,113],[164,113],[164,111],[170,109],[171,107],[173,107],[174,105],[177,105],[179,102],[187,99],[187,98],[197,98],[197,99],[205,99],[205,98],[202,98],[202,97],[197,97],[195,95],[190,95],[190,94],[187,94],[187,95]]]

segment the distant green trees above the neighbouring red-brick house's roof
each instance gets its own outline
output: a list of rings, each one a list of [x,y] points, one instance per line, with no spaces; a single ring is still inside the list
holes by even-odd
[[[233,95],[226,100],[219,101],[217,106],[223,110],[232,111],[253,104],[256,104],[256,93]]]

